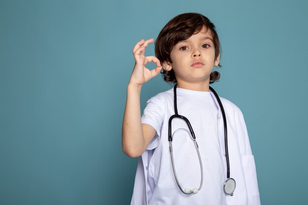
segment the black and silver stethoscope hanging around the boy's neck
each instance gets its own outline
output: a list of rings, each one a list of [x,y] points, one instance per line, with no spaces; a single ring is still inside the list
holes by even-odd
[[[227,141],[227,122],[226,122],[226,116],[225,116],[225,113],[224,113],[224,109],[222,107],[222,104],[221,104],[221,101],[216,93],[216,91],[212,88],[212,87],[209,87],[210,90],[213,91],[217,101],[218,101],[218,104],[219,104],[219,107],[221,109],[221,113],[222,113],[222,117],[223,117],[223,125],[224,125],[224,143],[225,143],[225,151],[226,151],[226,161],[227,161],[227,180],[224,182],[223,184],[223,191],[226,195],[230,195],[230,196],[233,196],[233,192],[235,190],[235,180],[233,178],[230,178],[230,166],[229,166],[229,153],[228,153],[228,141]],[[175,112],[175,115],[171,116],[169,118],[169,128],[168,128],[168,132],[169,132],[169,143],[170,143],[170,155],[171,155],[171,161],[172,161],[172,169],[173,169],[173,173],[174,173],[174,177],[177,181],[177,184],[181,190],[182,193],[184,194],[192,194],[192,193],[198,193],[198,191],[201,189],[202,187],[202,183],[203,183],[203,168],[202,168],[202,162],[201,162],[201,157],[200,157],[200,153],[199,153],[199,146],[196,142],[196,137],[195,137],[195,133],[193,132],[192,130],[192,127],[191,127],[191,124],[189,122],[189,120],[184,117],[184,116],[181,116],[178,114],[178,106],[177,106],[177,84],[174,86],[174,112]],[[172,122],[172,119],[174,118],[182,118],[185,120],[185,122],[187,123],[187,126],[189,128],[189,131],[190,133],[188,134],[191,134],[190,137],[191,139],[193,140],[194,142],[194,146],[197,150],[197,153],[198,153],[198,157],[199,157],[199,162],[200,162],[200,168],[201,168],[201,182],[200,182],[200,186],[199,188],[194,188],[194,189],[189,189],[189,188],[185,188],[184,190],[182,189],[180,183],[179,183],[179,180],[178,180],[178,177],[177,177],[177,174],[176,174],[176,171],[175,171],[175,168],[174,168],[174,161],[173,161],[173,150],[172,150],[172,138],[173,138],[173,135],[175,134],[175,132],[173,133],[173,135],[171,134],[171,122]]]

